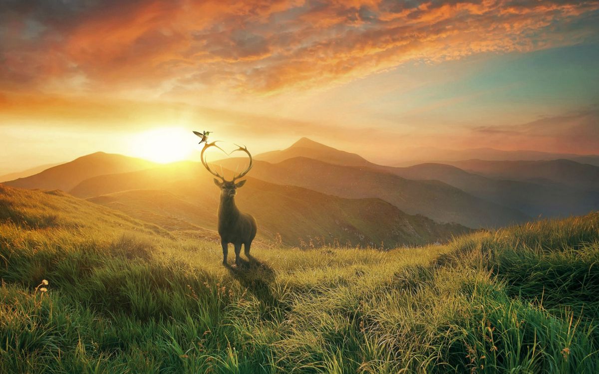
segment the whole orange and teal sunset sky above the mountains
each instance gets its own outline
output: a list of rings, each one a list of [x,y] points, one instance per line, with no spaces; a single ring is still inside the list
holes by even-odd
[[[599,1],[0,2],[0,173],[307,136],[599,154]]]

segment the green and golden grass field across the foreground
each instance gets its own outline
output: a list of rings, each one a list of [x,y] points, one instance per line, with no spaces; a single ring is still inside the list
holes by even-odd
[[[0,373],[599,372],[599,214],[252,254],[0,186]]]

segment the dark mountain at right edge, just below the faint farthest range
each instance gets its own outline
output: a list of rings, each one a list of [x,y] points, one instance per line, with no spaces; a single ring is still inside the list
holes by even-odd
[[[451,163],[458,168],[491,178],[562,184],[599,191],[599,167],[571,160],[485,161],[465,160]]]

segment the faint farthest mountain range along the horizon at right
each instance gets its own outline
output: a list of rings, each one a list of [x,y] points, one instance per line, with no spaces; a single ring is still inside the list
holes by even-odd
[[[411,147],[398,150],[392,166],[412,166],[420,163],[448,163],[459,160],[486,160],[486,161],[541,161],[567,159],[579,163],[588,163],[599,166],[598,155],[582,155],[570,153],[550,153],[540,151],[503,151],[494,148],[470,148],[465,150],[446,150],[435,147]]]

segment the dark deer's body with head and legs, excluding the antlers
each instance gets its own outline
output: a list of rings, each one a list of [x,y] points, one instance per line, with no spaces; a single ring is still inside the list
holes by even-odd
[[[239,266],[241,245],[246,256],[250,254],[250,247],[256,237],[256,220],[252,215],[241,212],[235,205],[235,188],[243,186],[245,181],[238,184],[224,182],[216,179],[214,183],[222,190],[219,205],[219,235],[223,248],[223,264],[226,264],[229,243],[235,248],[235,264]]]

